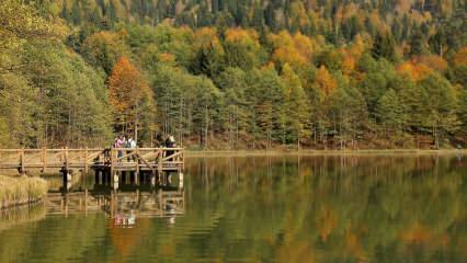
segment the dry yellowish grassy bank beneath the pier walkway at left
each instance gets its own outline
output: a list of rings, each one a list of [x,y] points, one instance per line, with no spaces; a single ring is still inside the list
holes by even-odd
[[[46,194],[43,179],[0,175],[0,209],[41,201]]]

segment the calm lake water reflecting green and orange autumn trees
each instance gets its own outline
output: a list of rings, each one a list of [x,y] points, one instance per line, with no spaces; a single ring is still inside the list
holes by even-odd
[[[0,262],[467,262],[467,157],[192,158],[163,188],[80,188],[1,213]]]

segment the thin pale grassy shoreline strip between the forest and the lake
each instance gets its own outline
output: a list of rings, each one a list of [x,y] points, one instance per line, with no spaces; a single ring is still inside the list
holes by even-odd
[[[367,150],[185,150],[185,158],[195,157],[248,157],[248,156],[446,156],[467,155],[467,149],[367,149]]]

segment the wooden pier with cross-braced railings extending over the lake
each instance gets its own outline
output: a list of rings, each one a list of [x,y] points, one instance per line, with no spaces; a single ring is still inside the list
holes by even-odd
[[[61,172],[68,181],[76,171],[94,170],[112,178],[130,172],[136,175],[164,172],[181,173],[184,167],[183,148],[106,148],[106,149],[0,149],[0,169],[18,170],[26,174],[32,170]]]

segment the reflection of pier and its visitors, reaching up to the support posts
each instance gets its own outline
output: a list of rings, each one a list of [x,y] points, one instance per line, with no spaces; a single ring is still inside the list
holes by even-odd
[[[49,178],[49,185],[54,185],[56,180],[60,179]],[[55,185],[58,186],[57,183]],[[148,181],[135,184],[129,179],[114,184],[98,181],[92,187],[88,182],[77,181],[67,191],[62,186],[58,191],[53,188],[45,207],[49,215],[83,213],[86,216],[89,211],[103,211],[115,226],[122,227],[132,227],[137,218],[143,217],[169,217],[170,221],[174,221],[174,217],[182,216],[185,210],[182,184],[155,185]]]

